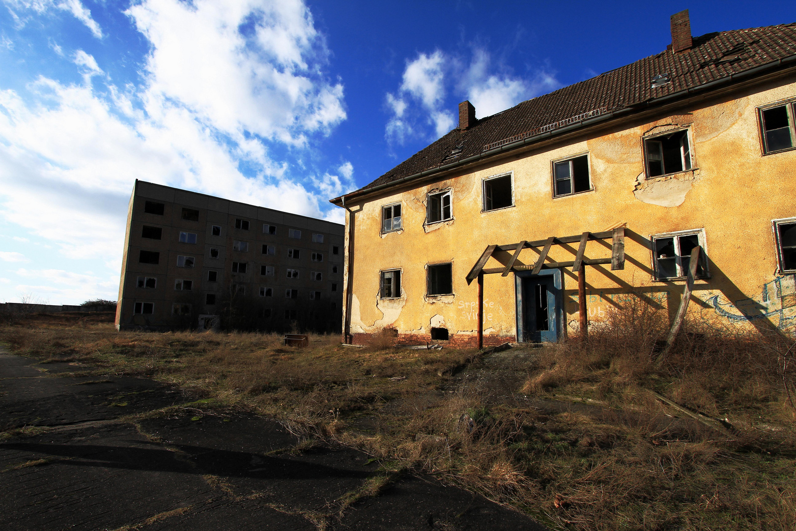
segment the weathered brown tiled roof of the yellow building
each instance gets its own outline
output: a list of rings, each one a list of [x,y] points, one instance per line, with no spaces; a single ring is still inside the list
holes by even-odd
[[[794,55],[796,23],[695,37],[685,52],[667,49],[479,119],[466,131],[454,129],[357,192]],[[654,76],[665,73],[671,83],[652,88]]]

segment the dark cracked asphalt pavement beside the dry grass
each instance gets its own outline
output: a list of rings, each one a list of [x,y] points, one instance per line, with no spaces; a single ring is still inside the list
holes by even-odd
[[[12,435],[0,529],[544,529],[434,478],[404,474],[363,496],[388,474],[364,453],[307,445],[258,416],[135,417],[189,398],[81,369],[0,351],[0,432]]]

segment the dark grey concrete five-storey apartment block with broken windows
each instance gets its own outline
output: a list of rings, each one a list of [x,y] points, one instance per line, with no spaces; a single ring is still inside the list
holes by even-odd
[[[339,332],[344,229],[136,180],[116,328]]]

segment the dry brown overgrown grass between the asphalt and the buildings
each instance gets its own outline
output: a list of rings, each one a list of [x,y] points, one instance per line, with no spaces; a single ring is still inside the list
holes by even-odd
[[[394,349],[388,332],[368,349],[329,336],[295,349],[269,334],[116,332],[39,319],[0,328],[0,340],[43,361],[96,366],[98,377],[171,381],[194,399],[359,447],[385,470],[373,492],[413,467],[552,529],[796,529],[788,342],[689,324],[656,368],[666,324],[639,299],[588,342],[535,349],[531,365],[515,368],[528,371],[517,389],[527,400],[499,398],[477,382],[451,388],[439,373],[474,351]],[[654,392],[726,418],[734,431],[665,416],[673,411]],[[615,409],[539,408],[560,396]]]

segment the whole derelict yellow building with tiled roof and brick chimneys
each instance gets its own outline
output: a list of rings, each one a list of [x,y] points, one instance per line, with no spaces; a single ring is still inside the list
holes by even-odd
[[[463,102],[456,129],[333,199],[346,340],[475,345],[481,322],[487,344],[556,341],[634,292],[673,320],[696,246],[689,314],[792,332],[796,24],[671,22],[655,56],[482,119]]]

